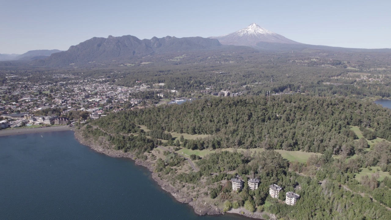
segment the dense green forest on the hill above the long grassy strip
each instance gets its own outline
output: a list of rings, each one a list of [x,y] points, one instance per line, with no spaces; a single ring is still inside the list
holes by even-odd
[[[235,147],[324,153],[330,148],[334,155],[349,156],[362,151],[353,141],[356,137],[348,132],[349,126],[373,130],[367,129],[371,139],[391,141],[390,114],[390,110],[369,101],[296,94],[205,98],[111,114],[93,124],[112,124],[112,128],[105,129],[119,133],[128,133],[126,123],[131,122],[160,134],[167,131],[212,135],[185,142],[185,147],[192,150]]]

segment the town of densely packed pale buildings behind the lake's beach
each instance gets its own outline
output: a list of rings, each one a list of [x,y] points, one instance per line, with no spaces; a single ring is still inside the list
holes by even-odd
[[[181,104],[201,96],[235,97],[245,92],[214,92],[210,86],[198,93],[181,94],[164,89],[164,83],[136,81],[134,87],[122,87],[106,79],[75,79],[63,74],[53,78],[66,80],[33,83],[7,74],[7,79],[13,80],[0,86],[0,129],[74,124],[126,109]]]

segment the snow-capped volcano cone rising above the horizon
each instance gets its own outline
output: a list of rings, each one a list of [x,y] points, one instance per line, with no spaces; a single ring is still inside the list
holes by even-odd
[[[248,27],[231,34],[210,38],[217,39],[222,44],[250,47],[256,47],[256,43],[258,42],[298,44],[298,42],[289,40],[280,34],[268,31],[256,23],[252,23]]]

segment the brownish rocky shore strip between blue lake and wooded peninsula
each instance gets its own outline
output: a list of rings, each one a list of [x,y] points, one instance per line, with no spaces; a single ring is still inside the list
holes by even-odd
[[[152,172],[152,178],[160,185],[162,189],[169,192],[177,201],[181,203],[187,203],[194,208],[194,212],[197,215],[220,215],[223,214],[222,209],[212,204],[201,203],[194,201],[192,197],[185,195],[178,191],[178,189],[171,186],[168,182],[158,177],[158,173],[153,172],[153,166],[151,162],[142,161],[140,159],[135,159],[131,153],[124,153],[122,151],[117,151],[109,148],[108,146],[102,146],[100,144],[95,144],[93,141],[86,140],[81,135],[81,132],[75,130],[75,138],[81,144],[89,146],[92,150],[95,150],[99,153],[104,153],[110,157],[126,157],[135,160],[137,165],[145,166],[149,171]],[[239,213],[240,214],[240,213]]]

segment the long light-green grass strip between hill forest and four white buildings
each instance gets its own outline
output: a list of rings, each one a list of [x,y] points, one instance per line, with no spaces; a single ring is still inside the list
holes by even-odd
[[[233,148],[225,148],[225,149],[221,149],[222,151],[233,151]],[[252,153],[254,152],[259,152],[259,151],[264,151],[264,149],[262,148],[254,148],[254,149],[248,149],[249,151],[251,151]],[[246,150],[244,149],[238,149],[238,152],[242,152],[244,153]],[[309,153],[309,152],[303,152],[303,151],[287,151],[287,150],[275,150],[277,151],[278,153],[281,154],[281,156],[291,162],[294,162],[294,161],[298,161],[298,162],[301,162],[301,163],[305,163],[307,162],[308,158],[311,156],[311,155],[318,155],[318,156],[321,156],[322,154],[321,153]],[[192,155],[192,154],[195,154],[195,155],[198,155],[200,157],[204,157],[205,155],[208,155],[210,153],[215,153],[216,151],[215,150],[189,150],[189,149],[181,149],[181,150],[178,150],[176,151],[180,154],[185,154],[185,155]]]

